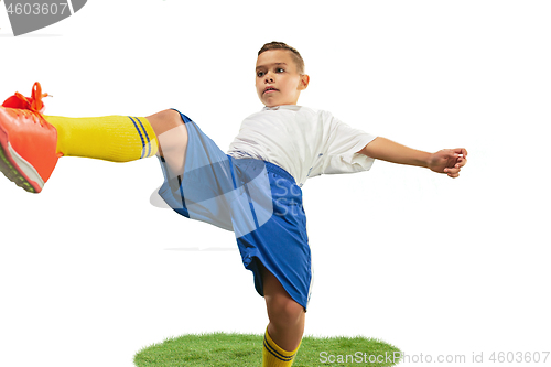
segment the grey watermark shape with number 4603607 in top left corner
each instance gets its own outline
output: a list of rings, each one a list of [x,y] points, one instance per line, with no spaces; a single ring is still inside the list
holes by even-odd
[[[0,0],[1,1],[1,0]],[[34,32],[57,23],[80,9],[87,0],[4,0],[13,35]]]

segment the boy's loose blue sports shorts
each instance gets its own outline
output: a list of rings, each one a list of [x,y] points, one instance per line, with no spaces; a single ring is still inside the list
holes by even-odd
[[[258,159],[225,154],[188,117],[183,175],[159,156],[161,197],[179,214],[231,230],[255,288],[263,296],[261,267],[307,309],[312,282],[302,190],[282,168]]]

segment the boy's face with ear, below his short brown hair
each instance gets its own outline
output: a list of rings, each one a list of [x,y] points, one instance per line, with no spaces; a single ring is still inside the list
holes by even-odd
[[[257,94],[267,107],[296,105],[301,90],[306,89],[310,78],[299,74],[288,50],[270,50],[257,60]]]

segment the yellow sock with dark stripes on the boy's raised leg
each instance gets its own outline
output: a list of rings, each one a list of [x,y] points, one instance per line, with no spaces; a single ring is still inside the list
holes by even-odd
[[[159,149],[144,117],[44,118],[57,130],[57,152],[63,155],[128,162],[152,156]]]

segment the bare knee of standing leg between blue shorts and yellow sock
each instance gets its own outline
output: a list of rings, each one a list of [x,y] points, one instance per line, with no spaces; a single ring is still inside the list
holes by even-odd
[[[279,280],[262,267],[266,306],[268,309],[268,334],[282,349],[291,352],[299,347],[304,334],[305,312],[287,293]]]

